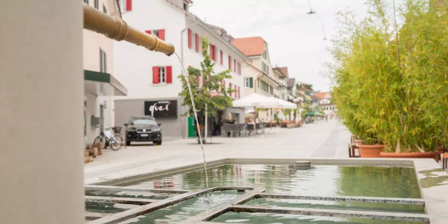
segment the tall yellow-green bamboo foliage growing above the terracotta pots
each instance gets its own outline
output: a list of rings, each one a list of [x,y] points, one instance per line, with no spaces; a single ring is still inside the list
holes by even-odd
[[[334,101],[349,130],[386,151],[433,151],[447,141],[447,4],[407,0],[395,22],[392,6],[370,0],[356,22],[341,14],[333,41]]]

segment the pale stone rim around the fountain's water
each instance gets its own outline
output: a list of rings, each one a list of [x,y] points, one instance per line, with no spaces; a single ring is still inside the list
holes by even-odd
[[[238,159],[227,158],[207,162],[209,167],[221,164],[294,164],[295,161],[311,161],[319,165],[351,165],[351,166],[398,166],[413,167],[416,173],[420,194],[425,203],[431,224],[448,223],[448,175],[434,159],[395,159],[395,158],[295,158],[295,159]],[[129,180],[152,178],[169,175],[179,171],[200,169],[202,163],[180,166],[141,175],[134,175],[115,180],[97,182],[95,185],[119,185]]]

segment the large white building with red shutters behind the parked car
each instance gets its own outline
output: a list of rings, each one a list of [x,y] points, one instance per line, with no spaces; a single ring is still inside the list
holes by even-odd
[[[248,58],[231,44],[232,37],[224,29],[206,24],[188,11],[191,0],[119,0],[119,3],[125,7],[122,10],[124,21],[172,43],[185,68],[201,68],[201,37],[206,37],[211,44],[209,54],[216,63],[214,71],[231,70],[232,78],[226,79],[225,85],[237,91],[233,98],[244,96],[241,65]],[[115,43],[114,51],[116,77],[128,89],[126,97],[115,98],[116,123],[126,123],[131,115],[149,114],[145,102],[151,105],[170,102],[171,110],[176,111],[175,116],[154,114],[162,124],[162,134],[185,137],[188,132],[187,118],[181,114],[186,110],[178,96],[182,90],[178,76],[182,71],[176,57],[126,42]],[[244,112],[241,109],[228,108],[217,116],[229,118],[229,114],[238,122],[243,121]]]

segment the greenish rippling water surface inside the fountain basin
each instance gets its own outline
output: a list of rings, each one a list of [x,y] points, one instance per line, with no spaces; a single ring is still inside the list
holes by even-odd
[[[267,193],[292,195],[342,195],[367,197],[420,198],[413,168],[315,165],[298,170],[293,165],[233,165],[208,169],[209,186],[250,186],[266,188]],[[198,190],[206,188],[203,170],[179,172],[163,177],[120,183],[124,186],[157,189]],[[177,223],[236,197],[235,191],[210,193],[212,203],[203,197],[151,212],[126,223]],[[311,200],[256,199],[248,205],[340,210],[395,211],[423,213],[423,206],[349,203]],[[384,223],[374,220],[310,217],[260,213],[226,213],[214,221],[243,223]],[[388,222],[392,223],[392,222]],[[400,223],[400,222],[396,222]]]

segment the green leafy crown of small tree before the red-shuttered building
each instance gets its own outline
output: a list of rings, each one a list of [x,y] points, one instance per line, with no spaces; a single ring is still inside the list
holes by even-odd
[[[209,41],[206,38],[202,40],[202,56],[204,60],[201,62],[201,69],[189,67],[187,69],[188,82],[190,83],[193,92],[193,99],[197,111],[203,111],[207,105],[209,115],[216,110],[224,110],[226,107],[232,106],[233,99],[230,94],[235,92],[230,88],[225,88],[224,79],[230,79],[229,70],[216,74],[213,63],[207,49],[209,48]],[[190,100],[190,92],[188,90],[187,81],[184,75],[179,75],[178,78],[182,81],[183,89],[179,93],[180,97],[184,98],[182,106],[188,106],[189,110],[184,115],[192,115],[193,107]],[[198,80],[203,81],[202,85],[198,85]]]

